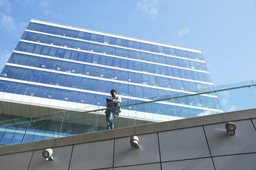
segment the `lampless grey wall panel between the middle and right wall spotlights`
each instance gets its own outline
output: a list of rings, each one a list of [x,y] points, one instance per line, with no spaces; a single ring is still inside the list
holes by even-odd
[[[162,161],[210,156],[201,126],[160,132],[159,143]]]

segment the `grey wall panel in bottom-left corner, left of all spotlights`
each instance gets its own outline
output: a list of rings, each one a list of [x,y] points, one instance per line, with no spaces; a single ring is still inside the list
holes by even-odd
[[[33,151],[28,151],[28,152],[22,152],[18,154],[0,156],[0,169],[1,170],[10,170],[10,169],[27,170],[28,165],[30,164],[32,152]]]

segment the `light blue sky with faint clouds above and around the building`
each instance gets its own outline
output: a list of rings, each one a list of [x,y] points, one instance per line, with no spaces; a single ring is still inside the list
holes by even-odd
[[[256,0],[0,0],[0,69],[30,19],[200,49],[215,85],[256,80]]]

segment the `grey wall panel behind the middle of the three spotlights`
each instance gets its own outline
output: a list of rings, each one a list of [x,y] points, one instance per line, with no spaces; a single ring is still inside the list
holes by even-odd
[[[153,133],[138,137],[140,139],[139,149],[131,148],[129,137],[116,139],[114,167],[160,162],[158,135]]]

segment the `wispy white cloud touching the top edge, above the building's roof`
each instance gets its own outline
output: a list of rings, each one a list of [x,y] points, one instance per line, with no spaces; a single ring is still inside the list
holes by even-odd
[[[153,20],[158,16],[158,0],[141,0],[136,5],[136,12],[147,16],[147,19]],[[134,14],[136,14],[134,12]]]

